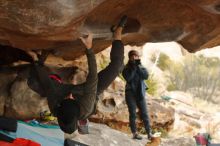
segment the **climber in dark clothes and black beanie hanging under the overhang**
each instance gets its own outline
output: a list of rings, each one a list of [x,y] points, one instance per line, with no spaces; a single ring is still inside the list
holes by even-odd
[[[77,125],[78,121],[87,121],[96,108],[98,96],[120,73],[124,59],[121,33],[126,19],[126,16],[122,17],[119,24],[113,29],[114,40],[110,53],[111,62],[98,74],[95,55],[91,49],[92,34],[88,34],[86,38],[80,38],[86,47],[88,61],[88,75],[86,81],[82,84],[62,83],[58,75],[50,75],[45,70],[42,60],[33,64],[28,78],[28,85],[41,96],[47,97],[49,109],[57,117],[59,126],[65,133],[73,133],[77,128],[80,129],[81,125]]]

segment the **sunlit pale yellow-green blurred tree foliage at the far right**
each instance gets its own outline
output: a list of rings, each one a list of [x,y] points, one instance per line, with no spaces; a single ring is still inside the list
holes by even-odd
[[[192,92],[204,100],[213,101],[220,90],[220,60],[204,56],[189,55],[183,63],[169,66],[169,89]]]

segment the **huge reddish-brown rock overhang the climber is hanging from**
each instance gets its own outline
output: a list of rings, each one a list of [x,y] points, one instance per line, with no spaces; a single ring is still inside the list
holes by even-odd
[[[109,28],[128,15],[125,44],[178,41],[190,52],[219,45],[219,0],[0,1],[0,44],[54,49],[65,59],[82,55],[77,39],[95,33],[96,52],[110,45]]]

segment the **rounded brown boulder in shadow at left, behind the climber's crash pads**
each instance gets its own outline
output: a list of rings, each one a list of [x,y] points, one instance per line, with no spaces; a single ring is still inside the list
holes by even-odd
[[[5,107],[5,115],[17,119],[39,117],[40,112],[48,110],[46,98],[40,97],[28,86],[27,81],[16,78],[10,89],[9,104]]]

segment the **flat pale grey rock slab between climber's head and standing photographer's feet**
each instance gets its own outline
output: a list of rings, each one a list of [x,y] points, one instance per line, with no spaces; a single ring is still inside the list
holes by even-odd
[[[131,135],[109,128],[103,124],[90,124],[90,134],[80,135],[77,132],[71,135],[73,140],[90,146],[144,146],[147,138],[133,140]]]

